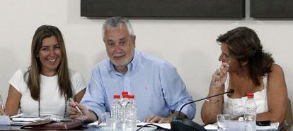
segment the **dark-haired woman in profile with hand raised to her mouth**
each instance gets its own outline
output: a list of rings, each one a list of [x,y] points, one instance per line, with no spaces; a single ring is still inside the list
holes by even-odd
[[[244,114],[247,94],[253,93],[256,120],[283,123],[287,108],[287,87],[283,70],[263,51],[258,35],[248,27],[237,27],[220,35],[222,65],[212,75],[208,96],[234,89],[234,93],[210,98],[202,106],[202,121],[215,123],[219,113],[231,119]]]

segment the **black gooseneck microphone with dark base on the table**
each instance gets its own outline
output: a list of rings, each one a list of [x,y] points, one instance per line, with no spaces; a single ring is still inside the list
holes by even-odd
[[[183,117],[180,117],[180,113],[182,111],[182,108],[188,104],[193,104],[197,101],[202,101],[204,99],[209,99],[209,98],[212,98],[214,96],[220,96],[220,95],[223,95],[223,94],[232,94],[234,93],[234,89],[229,89],[228,92],[224,92],[224,93],[221,93],[221,94],[216,94],[216,95],[213,95],[213,96],[207,96],[203,99],[197,99],[195,101],[190,101],[186,104],[184,104],[180,110],[179,110],[179,113],[178,113],[178,116],[175,116],[173,118],[173,120],[171,121],[171,130],[172,131],[180,131],[180,130],[185,130],[185,131],[194,131],[194,130],[200,130],[200,131],[206,131],[205,130],[205,127],[202,127],[201,125],[193,122],[193,120],[189,120],[187,118],[183,118]]]

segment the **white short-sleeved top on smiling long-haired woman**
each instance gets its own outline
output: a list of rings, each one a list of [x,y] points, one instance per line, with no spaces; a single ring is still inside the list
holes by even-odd
[[[30,95],[30,89],[26,83],[28,75],[28,68],[21,68],[14,73],[9,80],[9,83],[21,93],[20,113],[28,116],[38,116],[38,101],[35,101]],[[86,82],[81,73],[76,73],[74,70],[69,69],[70,80],[72,84],[73,95],[81,92],[86,88]],[[67,103],[68,104],[68,103]],[[65,111],[65,107],[67,111]],[[40,75],[40,114],[51,115],[50,118],[66,118],[69,117],[69,106],[65,106],[65,98],[59,93],[58,76],[47,77]]]

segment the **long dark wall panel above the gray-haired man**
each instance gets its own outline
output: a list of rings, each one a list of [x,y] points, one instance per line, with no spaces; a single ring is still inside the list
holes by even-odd
[[[81,0],[86,17],[244,18],[245,0]]]

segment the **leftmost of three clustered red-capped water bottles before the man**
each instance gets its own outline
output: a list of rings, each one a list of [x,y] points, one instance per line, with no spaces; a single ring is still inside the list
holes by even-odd
[[[122,130],[122,125],[121,125],[121,120],[120,120],[120,110],[121,110],[120,95],[115,94],[112,108],[111,108],[111,113],[112,113],[111,114],[112,115],[111,129],[115,130],[115,131]]]

